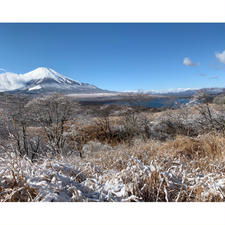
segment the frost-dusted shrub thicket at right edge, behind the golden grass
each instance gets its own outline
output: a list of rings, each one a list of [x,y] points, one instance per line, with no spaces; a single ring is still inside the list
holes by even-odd
[[[167,110],[151,121],[150,136],[166,140],[177,135],[195,137],[225,131],[225,111],[221,107],[198,105]]]

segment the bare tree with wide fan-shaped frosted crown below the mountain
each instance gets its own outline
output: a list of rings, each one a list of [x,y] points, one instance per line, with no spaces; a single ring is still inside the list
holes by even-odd
[[[79,108],[72,98],[54,94],[34,99],[27,104],[32,117],[40,124],[52,152],[62,154],[67,141],[66,123]]]

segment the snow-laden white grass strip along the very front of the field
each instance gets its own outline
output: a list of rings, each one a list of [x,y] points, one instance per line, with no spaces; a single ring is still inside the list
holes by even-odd
[[[177,161],[165,169],[157,160],[145,165],[130,156],[127,167],[121,171],[102,170],[78,160],[32,163],[27,159],[2,157],[0,161],[0,201],[127,202],[144,201],[147,195],[153,201],[179,201],[183,192],[187,191],[191,198],[198,187],[204,187],[202,201],[209,195],[225,197],[222,172],[187,171]]]

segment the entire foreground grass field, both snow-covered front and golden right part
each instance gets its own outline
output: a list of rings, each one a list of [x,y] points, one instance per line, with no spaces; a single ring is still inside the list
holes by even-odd
[[[0,201],[224,201],[224,144],[208,134],[90,154],[92,143],[83,159],[37,162],[1,152]]]

